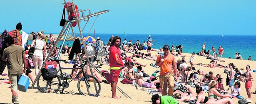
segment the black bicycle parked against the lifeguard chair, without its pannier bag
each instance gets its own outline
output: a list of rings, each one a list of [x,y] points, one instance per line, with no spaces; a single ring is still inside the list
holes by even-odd
[[[57,69],[57,77],[53,78],[52,80],[46,81],[42,77],[43,73],[41,73],[37,79],[37,88],[40,90],[40,92],[57,93],[60,90],[60,87],[62,87],[62,92],[60,93],[64,94],[64,89],[69,87],[69,83],[72,82],[76,77],[79,76],[79,74],[82,73],[83,76],[77,82],[77,89],[79,93],[82,95],[88,94],[89,96],[94,97],[97,97],[99,95],[101,90],[99,80],[96,77],[92,75],[87,75],[84,72],[83,67],[87,62],[85,62],[85,64],[81,64],[78,68],[63,68],[60,66],[60,62],[67,63],[66,60],[54,59],[54,61],[56,61],[57,64],[59,64],[59,69]],[[65,79],[65,77],[63,77],[62,69],[82,69],[82,71],[76,74],[75,77],[72,77],[70,80],[68,80],[67,78]]]

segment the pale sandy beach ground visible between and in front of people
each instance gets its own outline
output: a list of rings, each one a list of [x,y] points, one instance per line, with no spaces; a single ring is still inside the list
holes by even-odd
[[[144,51],[144,53],[147,53],[147,51]],[[157,52],[152,52],[153,54],[157,54]],[[188,53],[183,53],[186,55],[186,62],[188,62],[189,57],[191,54]],[[129,54],[131,55],[131,54]],[[62,59],[68,59],[67,54],[62,54]],[[160,68],[155,68],[150,66],[149,64],[155,63],[153,60],[149,59],[141,59],[141,58],[135,58],[137,59],[138,62],[142,64],[147,64],[146,67],[142,67],[147,74],[151,75],[154,73],[156,70],[160,70]],[[182,57],[176,57],[176,60],[182,59]],[[224,59],[225,62],[218,62],[219,64],[222,65],[228,65],[229,63],[234,63],[238,69],[244,68],[243,72],[246,72],[246,65],[250,65],[251,69],[256,69],[256,62],[255,61],[248,61],[248,60],[239,60],[239,59]],[[206,59],[206,57],[201,57],[195,55],[195,58],[193,60],[194,64],[198,64],[199,62],[201,63],[209,63],[211,60]],[[189,63],[187,63],[189,64]],[[62,64],[64,66],[73,66],[73,64]],[[189,64],[190,65],[190,64]],[[225,89],[229,88],[226,86],[226,74],[224,73],[224,69],[219,68],[219,69],[212,69],[209,67],[203,67],[199,65],[194,66],[196,68],[196,71],[198,69],[203,70],[204,72],[209,72],[212,71],[214,72],[214,76],[216,74],[220,74],[221,77],[223,78],[224,82],[224,87]],[[134,66],[134,68],[136,68]],[[103,65],[102,68],[99,68],[99,70],[108,70],[109,66]],[[35,70],[31,69],[32,73],[35,78]],[[110,70],[108,70],[110,72]],[[71,73],[71,70],[65,70],[65,72]],[[3,73],[7,74],[7,67],[5,68],[5,71]],[[253,81],[253,86],[251,89],[251,92],[255,92],[256,88],[256,73],[252,72],[254,79]],[[159,73],[157,74],[159,75]],[[199,78],[203,77],[201,75],[198,75]],[[3,79],[7,79],[7,76],[0,76],[0,81]],[[104,79],[104,78],[103,78]],[[119,78],[119,81],[121,79]],[[179,80],[178,80],[179,81]],[[70,86],[64,90],[65,94],[60,94],[58,92],[57,94],[55,93],[42,93],[37,89],[37,85],[35,84],[34,88],[31,89],[32,82],[30,81],[30,86],[27,89],[27,92],[20,92],[19,91],[19,97],[20,97],[20,104],[81,104],[81,103],[89,103],[89,104],[152,104],[151,102],[151,97],[152,95],[149,94],[147,91],[142,91],[142,87],[138,87],[138,89],[135,89],[134,86],[131,84],[122,84],[118,83],[117,86],[120,87],[125,93],[127,93],[132,99],[126,98],[121,92],[117,90],[117,96],[120,97],[120,99],[111,99],[111,87],[110,84],[105,84],[101,83],[101,92],[100,92],[100,97],[90,97],[90,96],[82,96],[77,90],[77,81],[72,81]],[[12,93],[10,92],[10,84],[0,84],[0,103],[1,104],[11,104],[12,103]],[[149,89],[149,88],[144,88],[144,89]],[[194,92],[195,92],[195,88]],[[229,94],[230,94],[229,90]],[[207,96],[207,93],[204,93],[205,96]],[[246,94],[246,89],[245,89],[245,83],[241,82],[241,96],[247,99],[247,94]],[[252,94],[252,103],[255,104],[256,102],[256,94]],[[238,104],[239,99],[232,99],[235,104]],[[185,104],[184,102],[179,102],[181,104]]]

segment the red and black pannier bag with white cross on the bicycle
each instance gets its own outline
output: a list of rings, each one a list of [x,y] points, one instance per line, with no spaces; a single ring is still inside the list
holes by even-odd
[[[45,61],[45,78],[47,79],[53,79],[57,77],[57,62],[52,60]]]

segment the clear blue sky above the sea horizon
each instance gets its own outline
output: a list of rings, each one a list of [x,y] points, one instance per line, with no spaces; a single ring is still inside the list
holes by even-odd
[[[0,32],[60,33],[64,0],[2,0]],[[74,0],[79,9],[111,10],[92,27],[109,34],[256,35],[256,0]],[[88,34],[96,17],[90,18]],[[67,16],[66,16],[67,19]],[[82,21],[81,27],[85,22]],[[77,27],[75,31],[79,32]],[[91,31],[90,33],[93,33]]]

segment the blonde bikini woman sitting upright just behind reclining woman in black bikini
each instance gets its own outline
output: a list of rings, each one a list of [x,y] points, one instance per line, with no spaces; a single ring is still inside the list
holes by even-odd
[[[217,97],[220,97],[220,98],[226,98],[226,97],[232,98],[231,95],[219,93],[216,90],[218,88],[218,86],[219,85],[218,85],[217,81],[213,81],[213,82],[211,82],[211,84],[209,84],[209,93],[208,93],[209,99],[216,99],[216,100],[218,100]]]

